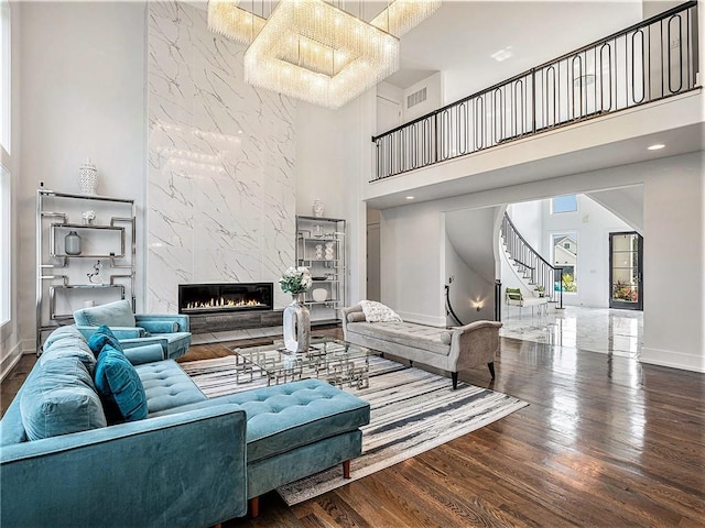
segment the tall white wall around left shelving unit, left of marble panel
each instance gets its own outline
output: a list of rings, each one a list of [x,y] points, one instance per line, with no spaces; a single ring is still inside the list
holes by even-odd
[[[40,182],[78,193],[78,167],[98,167],[98,193],[138,205],[138,258],[144,258],[145,4],[23,2],[19,26],[21,174],[19,320],[34,346],[35,191]],[[139,266],[142,267],[142,266]],[[138,284],[143,276],[138,274]],[[143,296],[138,295],[138,298]]]

